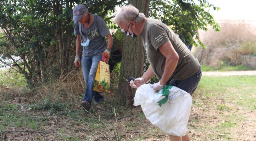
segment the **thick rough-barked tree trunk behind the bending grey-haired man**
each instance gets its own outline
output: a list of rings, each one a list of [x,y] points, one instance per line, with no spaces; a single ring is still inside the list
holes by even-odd
[[[148,16],[148,7],[150,0],[128,0],[128,4],[132,4],[139,9],[140,13]],[[136,89],[130,87],[124,78],[141,77],[144,67],[145,50],[142,44],[141,37],[132,38],[125,35],[123,43],[122,63],[120,68],[120,77],[118,84],[119,104],[132,106]],[[124,77],[124,78],[123,78]]]

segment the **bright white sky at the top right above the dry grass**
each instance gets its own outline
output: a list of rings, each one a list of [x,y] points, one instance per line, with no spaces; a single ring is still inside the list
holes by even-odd
[[[209,0],[221,9],[211,11],[218,20],[245,20],[256,25],[256,0]]]

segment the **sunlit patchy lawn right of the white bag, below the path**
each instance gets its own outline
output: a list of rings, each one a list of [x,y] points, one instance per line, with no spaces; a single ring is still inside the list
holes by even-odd
[[[194,94],[193,105],[206,119],[190,117],[190,124],[194,125],[190,129],[211,131],[202,133],[202,140],[238,140],[232,136],[233,132],[243,130],[243,123],[252,120],[245,113],[256,112],[255,84],[256,76],[203,76]],[[256,122],[255,119],[252,122]],[[195,140],[195,137],[191,138]]]

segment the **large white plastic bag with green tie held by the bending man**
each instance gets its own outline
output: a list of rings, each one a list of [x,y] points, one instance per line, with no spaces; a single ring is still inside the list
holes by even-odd
[[[170,88],[170,89],[168,89]],[[170,86],[163,96],[162,89],[154,94],[152,84],[141,85],[134,97],[134,106],[141,105],[146,118],[159,127],[162,132],[172,136],[188,134],[187,123],[190,115],[192,97],[184,90]]]

